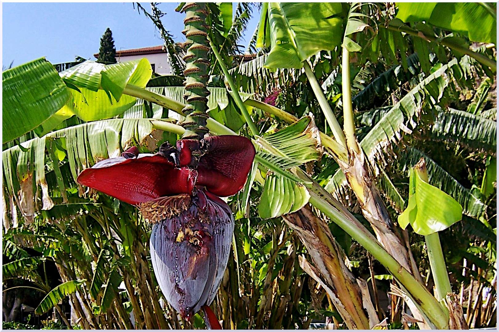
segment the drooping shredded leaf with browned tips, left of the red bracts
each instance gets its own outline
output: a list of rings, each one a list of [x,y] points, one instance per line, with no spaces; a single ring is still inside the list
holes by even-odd
[[[41,138],[21,143],[2,152],[3,186],[9,198],[19,191],[25,193],[25,204],[19,206],[21,211],[34,211],[34,194],[32,188],[41,188],[44,208],[53,207],[48,188],[56,188],[64,197],[64,183],[73,183],[80,171],[92,166],[96,161],[118,156],[126,147],[139,144],[145,151],[156,148],[149,146],[147,137],[153,133],[151,119],[110,119],[84,123],[48,133]],[[156,120],[158,121],[158,120]],[[45,178],[45,149],[50,158],[57,160],[51,142],[56,141],[62,147],[68,159],[67,170],[61,174],[63,167],[54,167],[56,176]],[[50,144],[49,144],[50,142]],[[21,149],[21,147],[24,150]],[[57,165],[57,162],[53,165]],[[32,176],[33,173],[35,176]],[[64,181],[61,177],[64,176]],[[36,181],[36,182],[35,182]],[[31,188],[31,191],[28,189]],[[53,191],[53,189],[51,189]],[[26,196],[28,195],[28,196]],[[14,200],[17,201],[17,200]],[[46,201],[46,203],[45,203]],[[29,203],[28,203],[29,202]],[[51,204],[50,204],[51,203]],[[51,206],[50,206],[51,205]]]

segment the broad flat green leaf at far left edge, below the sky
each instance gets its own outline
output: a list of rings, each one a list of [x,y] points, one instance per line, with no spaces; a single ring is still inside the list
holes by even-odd
[[[44,58],[4,71],[2,142],[17,138],[41,124],[70,96],[54,67]]]

